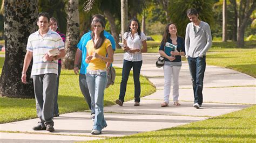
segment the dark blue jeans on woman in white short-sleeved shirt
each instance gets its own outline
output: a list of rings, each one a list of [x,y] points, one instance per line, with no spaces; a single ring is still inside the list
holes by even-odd
[[[124,96],[126,92],[126,86],[127,81],[129,78],[129,74],[131,71],[131,68],[133,69],[133,81],[134,81],[134,101],[140,102],[140,82],[139,82],[139,74],[140,69],[142,68],[142,61],[127,61],[124,60],[123,63],[123,70],[122,70],[122,81],[120,84],[120,94],[119,94],[119,100],[124,102]]]

